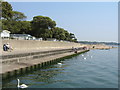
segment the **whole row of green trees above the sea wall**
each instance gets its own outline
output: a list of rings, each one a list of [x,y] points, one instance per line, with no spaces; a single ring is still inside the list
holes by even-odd
[[[8,2],[0,2],[2,6],[2,29],[9,30],[12,34],[30,34],[37,38],[56,38],[58,40],[66,40],[77,42],[73,33],[56,27],[56,22],[50,17],[34,16],[32,21],[26,21],[27,16],[19,11],[13,11]]]

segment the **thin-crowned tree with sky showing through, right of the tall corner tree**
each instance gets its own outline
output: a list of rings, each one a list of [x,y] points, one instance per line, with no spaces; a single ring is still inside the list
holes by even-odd
[[[12,14],[12,20],[14,21],[23,21],[24,19],[26,19],[26,16],[22,12],[12,11]]]

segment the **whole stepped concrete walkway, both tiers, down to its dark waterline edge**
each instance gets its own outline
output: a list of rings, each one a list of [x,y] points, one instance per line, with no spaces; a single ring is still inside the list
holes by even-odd
[[[89,50],[79,48],[78,53],[84,53]],[[59,62],[62,58],[77,55],[71,49],[53,50],[37,53],[28,53],[26,55],[8,55],[2,58],[2,79],[22,75],[24,73],[34,71],[35,69]],[[11,57],[11,58],[9,58]]]

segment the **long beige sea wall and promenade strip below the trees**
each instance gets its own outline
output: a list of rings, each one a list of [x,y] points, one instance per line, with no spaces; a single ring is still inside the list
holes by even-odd
[[[39,49],[61,49],[80,47],[81,44],[59,41],[36,41],[36,40],[2,40],[2,44],[9,43],[16,51],[39,50]],[[2,46],[0,46],[2,49]]]

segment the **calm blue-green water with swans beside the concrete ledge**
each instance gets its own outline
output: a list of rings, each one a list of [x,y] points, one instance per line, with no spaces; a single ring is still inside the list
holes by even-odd
[[[91,50],[17,77],[29,88],[117,88],[118,49]],[[16,88],[17,78],[3,83],[4,88]]]

